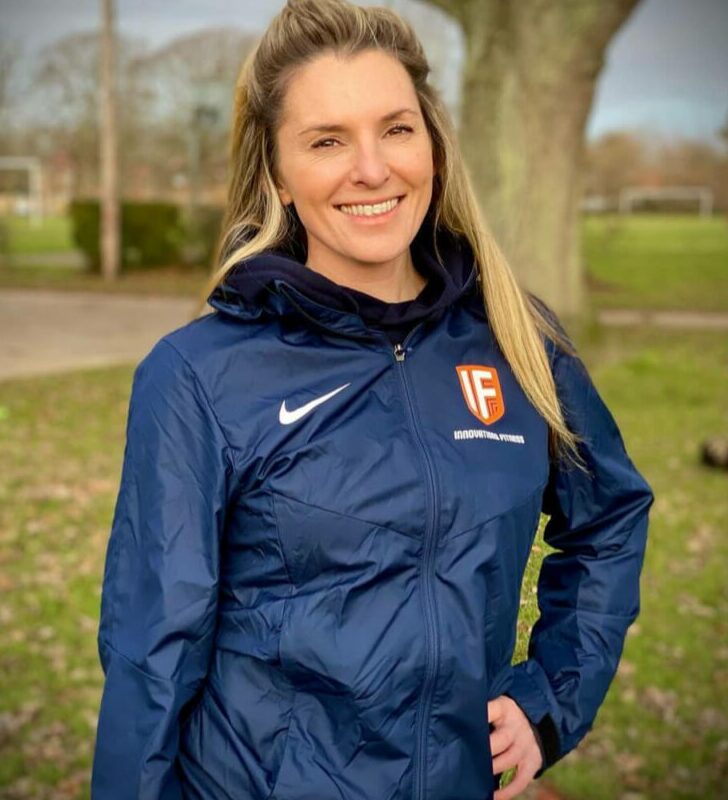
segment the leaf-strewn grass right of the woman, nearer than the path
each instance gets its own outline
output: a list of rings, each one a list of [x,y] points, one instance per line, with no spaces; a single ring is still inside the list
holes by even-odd
[[[728,474],[699,464],[728,435],[728,338],[603,333],[585,348],[656,502],[642,610],[594,730],[548,777],[571,798],[704,800],[728,777]]]

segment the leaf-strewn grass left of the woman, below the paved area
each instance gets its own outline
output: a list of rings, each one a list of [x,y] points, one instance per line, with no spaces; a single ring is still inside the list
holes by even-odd
[[[0,384],[0,795],[87,796],[131,370]]]

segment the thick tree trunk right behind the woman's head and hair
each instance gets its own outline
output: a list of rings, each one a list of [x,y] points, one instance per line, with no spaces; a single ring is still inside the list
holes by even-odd
[[[465,39],[460,135],[473,185],[521,282],[583,303],[584,130],[612,36],[638,0],[430,0]]]

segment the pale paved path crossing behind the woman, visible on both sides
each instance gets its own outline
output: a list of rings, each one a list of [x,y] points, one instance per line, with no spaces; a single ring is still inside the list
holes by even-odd
[[[0,290],[0,381],[136,363],[192,318],[195,301],[37,289]],[[606,325],[728,330],[728,313],[602,311]]]

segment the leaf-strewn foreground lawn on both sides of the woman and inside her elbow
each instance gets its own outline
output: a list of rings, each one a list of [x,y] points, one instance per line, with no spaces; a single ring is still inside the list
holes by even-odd
[[[574,800],[718,800],[728,777],[728,338],[609,330],[582,352],[657,494],[642,613],[582,746],[551,781]],[[0,796],[88,797],[96,625],[132,368],[0,384]],[[519,652],[535,615],[537,545]]]

